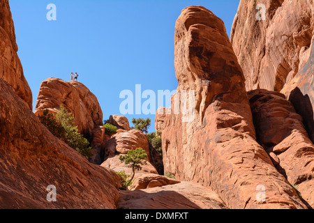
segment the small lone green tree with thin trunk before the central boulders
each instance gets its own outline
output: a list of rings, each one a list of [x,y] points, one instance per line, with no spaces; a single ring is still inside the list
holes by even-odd
[[[121,162],[124,162],[124,164],[128,165],[128,167],[132,168],[133,174],[132,178],[130,178],[130,182],[132,182],[135,176],[135,171],[141,170],[142,165],[146,164],[146,157],[147,154],[142,148],[137,148],[135,151],[130,150],[128,151],[128,154],[119,157]]]

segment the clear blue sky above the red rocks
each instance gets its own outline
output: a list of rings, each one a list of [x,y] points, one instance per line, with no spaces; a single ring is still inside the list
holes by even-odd
[[[57,6],[48,21],[47,5]],[[204,6],[224,22],[228,35],[239,0],[10,0],[24,75],[33,92],[48,77],[79,81],[93,92],[104,118],[120,114],[122,90],[177,89],[174,74],[174,24],[187,6]],[[144,101],[144,100],[143,100]],[[157,106],[157,105],[156,105]],[[151,118],[154,115],[126,115]]]

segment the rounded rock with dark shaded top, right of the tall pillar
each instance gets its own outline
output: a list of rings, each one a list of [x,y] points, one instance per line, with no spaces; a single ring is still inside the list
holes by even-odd
[[[248,93],[257,141],[278,171],[295,185],[308,206],[314,207],[314,145],[292,103],[267,90]]]

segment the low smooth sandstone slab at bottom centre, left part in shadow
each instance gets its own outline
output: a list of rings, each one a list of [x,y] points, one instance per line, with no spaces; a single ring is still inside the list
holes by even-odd
[[[227,206],[209,188],[181,182],[145,190],[121,191],[119,209],[227,209]]]

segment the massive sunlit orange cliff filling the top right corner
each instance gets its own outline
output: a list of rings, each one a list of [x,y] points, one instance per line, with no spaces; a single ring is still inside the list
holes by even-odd
[[[257,3],[266,6],[258,21]],[[314,142],[314,5],[306,0],[241,0],[231,41],[246,77],[246,89],[281,91]]]

